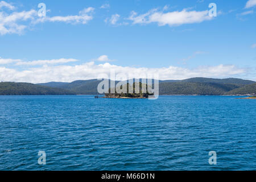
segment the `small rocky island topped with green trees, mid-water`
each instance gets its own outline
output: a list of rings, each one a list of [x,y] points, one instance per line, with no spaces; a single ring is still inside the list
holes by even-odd
[[[137,92],[135,92],[135,85],[138,84],[139,85],[139,90],[137,90]],[[115,93],[110,93],[109,89],[109,93],[105,93],[105,97],[104,98],[148,98],[148,96],[152,96],[154,94],[148,93],[148,88],[149,86],[147,84],[142,84],[141,82],[137,82],[137,83],[133,83],[133,93],[129,93],[129,84],[126,84],[126,88],[127,88],[127,92],[126,93],[122,93],[122,92],[117,92],[118,88],[115,88]],[[121,90],[123,87],[123,85],[121,85],[119,87],[119,89]],[[138,87],[138,86],[137,86]],[[142,88],[146,88],[146,93],[142,92]]]

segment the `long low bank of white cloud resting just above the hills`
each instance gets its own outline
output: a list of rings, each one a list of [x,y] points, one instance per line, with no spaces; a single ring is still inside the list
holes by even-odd
[[[114,64],[94,64],[89,62],[81,65],[44,65],[43,67],[29,68],[23,71],[0,67],[0,81],[15,82],[49,82],[75,81],[97,78],[101,74],[109,75],[110,71],[116,74],[125,74],[127,77],[143,78],[143,75],[158,73],[160,80],[181,80],[191,77],[234,77],[245,73],[245,69],[234,65],[217,65],[213,67],[199,67],[188,69],[182,67],[168,68],[134,68],[122,67]]]

